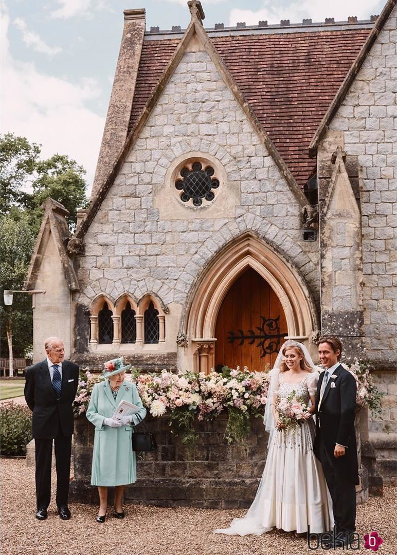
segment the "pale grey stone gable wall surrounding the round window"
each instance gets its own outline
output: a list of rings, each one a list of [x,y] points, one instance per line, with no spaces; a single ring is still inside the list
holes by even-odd
[[[182,203],[173,181],[181,160],[192,157],[222,176],[215,200],[200,208]],[[302,240],[300,209],[208,54],[187,52],[84,238],[75,300],[89,307],[101,292],[112,299],[154,292],[170,310],[157,348],[174,351],[194,282],[248,230],[298,269],[318,301],[318,245]]]

